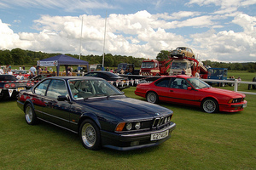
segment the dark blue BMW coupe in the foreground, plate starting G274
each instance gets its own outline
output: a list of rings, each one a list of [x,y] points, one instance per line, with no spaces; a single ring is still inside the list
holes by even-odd
[[[48,77],[21,91],[17,105],[29,125],[38,120],[79,133],[86,149],[135,150],[171,138],[173,112],[131,99],[102,78]]]

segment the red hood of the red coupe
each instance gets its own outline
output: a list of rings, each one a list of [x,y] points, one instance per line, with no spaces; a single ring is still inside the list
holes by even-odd
[[[211,94],[221,94],[229,96],[230,98],[245,98],[245,94],[234,92],[231,90],[225,90],[221,88],[201,88],[201,92],[211,93]]]

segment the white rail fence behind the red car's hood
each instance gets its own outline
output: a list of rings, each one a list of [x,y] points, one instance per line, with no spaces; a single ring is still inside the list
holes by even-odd
[[[235,81],[230,81],[230,80],[212,80],[212,79],[201,79],[201,80],[203,80],[204,82],[233,83],[234,84],[234,91],[235,92],[240,92],[242,94],[256,95],[256,93],[237,91],[238,84],[253,84],[253,85],[256,85],[256,82],[244,82],[244,81],[238,81],[237,79],[235,79]]]

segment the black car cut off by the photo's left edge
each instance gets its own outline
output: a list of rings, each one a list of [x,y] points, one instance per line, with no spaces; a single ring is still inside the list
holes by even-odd
[[[36,83],[37,81],[19,81],[13,75],[0,75],[0,99],[16,98],[20,90],[32,88]]]

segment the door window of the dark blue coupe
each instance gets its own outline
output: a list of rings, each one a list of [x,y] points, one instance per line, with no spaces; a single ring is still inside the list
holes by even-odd
[[[46,96],[57,99],[58,96],[61,95],[67,95],[67,88],[65,82],[62,80],[52,80],[49,83],[49,88],[47,90]]]

